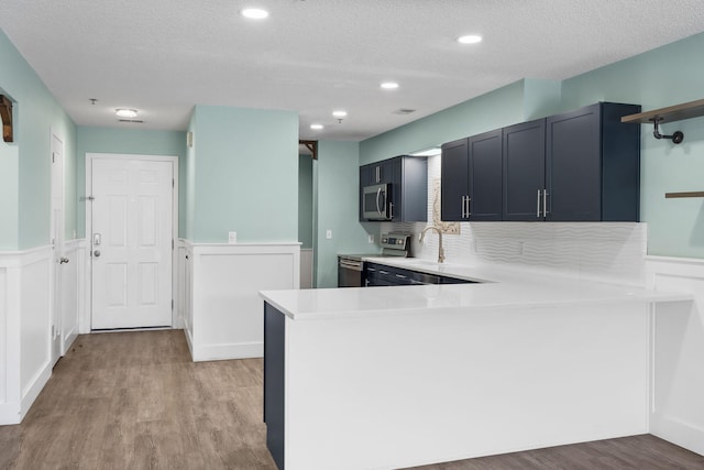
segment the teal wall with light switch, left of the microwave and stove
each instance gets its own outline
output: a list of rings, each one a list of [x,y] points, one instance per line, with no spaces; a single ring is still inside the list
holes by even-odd
[[[377,251],[367,243],[367,233],[377,233],[378,223],[360,223],[358,197],[360,190],[358,142],[318,142],[316,162],[317,253],[314,282],[317,287],[337,287],[338,253]],[[326,231],[332,230],[332,239]]]

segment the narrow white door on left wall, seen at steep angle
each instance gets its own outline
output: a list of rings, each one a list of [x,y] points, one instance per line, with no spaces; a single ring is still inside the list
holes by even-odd
[[[52,325],[51,325],[51,351],[52,365],[58,361],[62,354],[62,269],[67,262],[64,258],[64,143],[52,133],[52,248],[54,263],[51,275],[52,284]]]

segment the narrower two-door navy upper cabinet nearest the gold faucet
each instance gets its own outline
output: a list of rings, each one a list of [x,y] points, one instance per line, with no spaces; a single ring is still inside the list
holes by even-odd
[[[442,145],[441,218],[502,220],[502,130]]]

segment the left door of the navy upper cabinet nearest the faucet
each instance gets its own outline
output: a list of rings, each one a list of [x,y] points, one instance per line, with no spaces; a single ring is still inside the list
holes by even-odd
[[[468,220],[464,198],[470,196],[468,139],[442,145],[440,168],[440,217],[444,221]]]

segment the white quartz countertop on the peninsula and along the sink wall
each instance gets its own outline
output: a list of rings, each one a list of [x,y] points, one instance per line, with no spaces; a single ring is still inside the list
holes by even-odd
[[[692,298],[690,294],[571,280],[528,269],[484,264],[438,264],[413,258],[366,258],[365,261],[479,283],[262,291],[260,295],[295,320],[369,315],[417,315],[430,311],[471,314],[491,308],[676,302]]]

